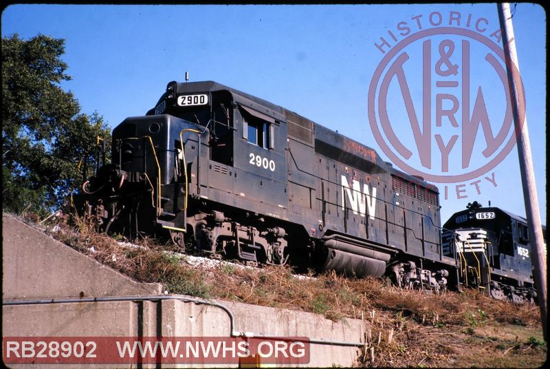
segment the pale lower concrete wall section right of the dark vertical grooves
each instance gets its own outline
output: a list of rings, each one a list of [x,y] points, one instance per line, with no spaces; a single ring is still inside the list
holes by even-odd
[[[365,324],[358,319],[330,321],[322,315],[265,306],[252,306],[238,302],[217,302],[227,306],[235,316],[235,329],[253,336],[309,337],[332,341],[364,340]],[[230,319],[215,306],[165,301],[162,304],[162,335],[178,336],[229,336]],[[168,323],[169,321],[169,323]],[[358,347],[310,344],[310,361],[314,368],[349,367],[359,355]]]

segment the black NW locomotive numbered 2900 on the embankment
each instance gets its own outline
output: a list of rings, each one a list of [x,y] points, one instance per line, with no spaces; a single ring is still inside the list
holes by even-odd
[[[168,83],[145,116],[115,127],[111,157],[83,185],[105,231],[165,232],[213,257],[386,273],[435,291],[456,275],[441,248],[437,187],[219,83]]]

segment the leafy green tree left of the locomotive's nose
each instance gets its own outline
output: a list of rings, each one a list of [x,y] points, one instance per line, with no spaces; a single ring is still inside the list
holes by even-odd
[[[80,160],[96,160],[96,137],[109,129],[97,113],[80,112],[61,88],[71,77],[61,60],[65,40],[39,34],[2,37],[2,199],[7,211],[60,207],[78,187]]]

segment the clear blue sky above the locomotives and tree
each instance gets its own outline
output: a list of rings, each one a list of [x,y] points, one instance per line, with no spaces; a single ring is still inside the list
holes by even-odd
[[[265,98],[330,129],[338,129],[340,133],[373,147],[384,160],[388,160],[373,137],[367,115],[369,85],[384,56],[375,43],[381,42],[380,37],[389,40],[388,30],[397,35],[397,24],[401,21],[411,28],[411,34],[418,32],[413,18],[417,15],[422,16],[423,30],[434,28],[428,22],[432,12],[442,14],[442,25],[448,22],[450,12],[459,12],[461,27],[470,30],[474,29],[477,19],[483,18],[486,21],[479,24],[487,31],[478,33],[486,37],[499,28],[496,5],[492,3],[395,6],[13,5],[2,13],[1,32],[2,36],[19,33],[23,38],[30,38],[42,33],[65,39],[63,59],[69,65],[67,72],[73,79],[63,83],[63,87],[74,92],[83,112],[97,111],[111,127],[127,116],[139,116],[154,107],[166,83],[184,81],[184,74],[189,71],[191,81],[213,80]],[[472,21],[468,28],[465,23],[469,14],[472,14]],[[546,14],[536,4],[518,3],[513,20],[544,223]],[[398,41],[401,39],[404,37],[399,36]],[[434,38],[433,41],[443,39]],[[414,106],[418,108],[421,107],[421,65],[414,56],[419,54],[421,44],[415,45],[406,49],[411,61],[404,71],[411,86]],[[435,62],[437,48],[432,49],[432,61]],[[457,55],[459,58],[460,54]],[[479,55],[484,55],[483,48],[472,43],[472,60]],[[482,62],[476,62],[478,64],[472,67],[471,78],[483,88],[487,112],[496,131],[502,125],[505,95],[494,73]],[[475,93],[475,89],[473,91]],[[474,93],[470,109],[473,109]],[[410,140],[412,135],[406,134],[410,126],[408,123],[400,125],[406,118],[406,111],[395,81],[389,87],[388,102],[392,127],[398,122],[396,131],[408,136],[408,140],[404,136],[399,138],[414,147]],[[450,138],[454,132],[450,123],[443,122],[442,127],[441,134]],[[480,129],[476,137],[482,136]],[[481,143],[481,140],[476,140],[472,165],[485,160],[479,154]],[[450,171],[460,172],[453,161],[458,158],[453,156],[450,160]],[[419,162],[415,164],[419,165]],[[474,178],[447,184],[448,199],[445,200],[444,184],[437,183],[441,192],[442,220],[474,200],[484,205],[490,200],[493,206],[525,215],[516,149],[487,176],[490,178],[492,173],[496,187],[484,176],[477,178],[481,180],[478,182],[481,194],[471,184],[476,180]],[[459,199],[456,198],[456,186],[461,184],[464,185],[459,187],[460,196],[467,197]]]

